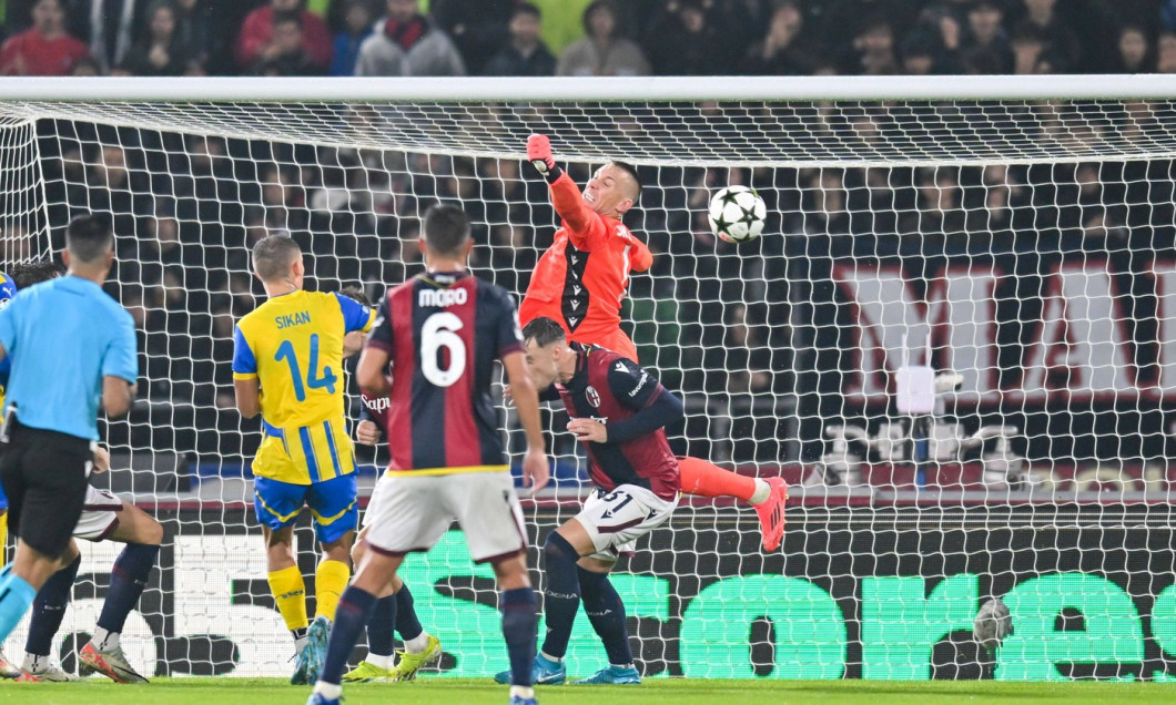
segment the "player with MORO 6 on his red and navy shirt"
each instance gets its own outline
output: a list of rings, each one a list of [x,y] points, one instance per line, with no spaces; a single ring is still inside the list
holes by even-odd
[[[492,564],[501,591],[510,703],[532,705],[536,602],[522,510],[489,394],[494,360],[502,362],[514,391],[528,442],[523,482],[535,489],[549,474],[539,397],[509,295],[466,271],[473,240],[465,213],[430,208],[420,247],[428,271],[385,296],[355,372],[366,395],[390,400],[392,464],[372,495],[366,551],[339,603],[327,662],[308,704],[339,701],[347,658],[377,596],[408,552],[432,548],[456,519],[470,556]]]

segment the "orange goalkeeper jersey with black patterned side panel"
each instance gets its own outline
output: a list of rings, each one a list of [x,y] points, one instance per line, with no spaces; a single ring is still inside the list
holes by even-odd
[[[599,343],[621,329],[629,271],[649,269],[653,254],[624,223],[588,208],[567,174],[552,183],[552,203],[563,227],[535,266],[519,318],[547,316],[570,340]]]

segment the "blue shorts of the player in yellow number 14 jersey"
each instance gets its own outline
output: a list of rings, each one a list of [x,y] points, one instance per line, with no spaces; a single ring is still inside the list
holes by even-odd
[[[308,485],[253,478],[253,509],[259,522],[274,531],[289,526],[305,504],[310,508],[314,535],[321,543],[339,540],[359,526],[358,496],[354,472]]]

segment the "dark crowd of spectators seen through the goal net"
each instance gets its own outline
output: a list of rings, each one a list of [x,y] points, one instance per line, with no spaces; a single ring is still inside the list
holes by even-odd
[[[521,295],[557,222],[546,184],[524,179],[521,161],[65,121],[42,129],[55,135],[41,140],[51,222],[89,212],[114,219],[112,293],[140,331],[141,387],[158,402],[151,412],[167,415],[132,425],[153,434],[142,444],[156,449],[239,452],[223,448],[240,442],[227,363],[234,322],[260,302],[248,250],[266,235],[302,244],[312,288],[361,283],[376,298],[420,270],[423,209],[456,202],[475,223],[474,270]],[[916,282],[949,262],[995,264],[1016,274],[1001,306],[1018,307],[997,314],[1028,320],[1040,273],[1058,261],[1134,253],[1116,262],[1144,271],[1157,253],[1176,255],[1171,168],[644,168],[627,222],[655,257],[633,278],[624,318],[641,362],[695,411],[690,452],[779,461],[795,458],[804,438],[815,459],[822,419],[844,411],[842,375],[856,364],[843,352],[854,322],[835,293],[835,262],[896,263]],[[589,166],[569,173],[583,183]],[[706,203],[727,183],[754,186],[768,201],[768,233],[784,237],[716,241]],[[1022,333],[998,335],[1013,344],[1002,348],[1000,383],[1015,387]],[[198,432],[212,428],[223,432]]]

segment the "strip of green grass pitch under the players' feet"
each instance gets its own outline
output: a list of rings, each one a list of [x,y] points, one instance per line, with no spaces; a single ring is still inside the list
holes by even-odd
[[[108,682],[0,685],[0,703],[35,705],[301,705],[307,687],[279,679],[156,678],[151,685]],[[888,705],[1010,703],[1176,703],[1176,684],[880,680],[699,680],[653,678],[640,686],[548,686],[542,705]],[[489,679],[421,678],[347,686],[346,705],[503,705],[507,689]]]

